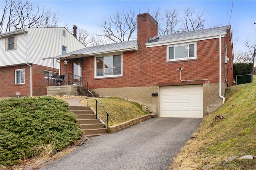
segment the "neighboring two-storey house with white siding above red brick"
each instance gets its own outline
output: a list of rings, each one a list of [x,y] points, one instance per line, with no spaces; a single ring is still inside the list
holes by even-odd
[[[74,27],[76,29],[76,27]],[[60,64],[46,56],[84,48],[66,28],[25,28],[0,34],[0,97],[46,95]]]

